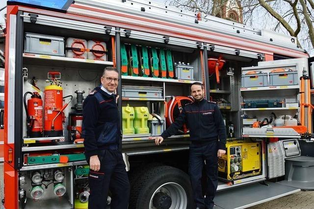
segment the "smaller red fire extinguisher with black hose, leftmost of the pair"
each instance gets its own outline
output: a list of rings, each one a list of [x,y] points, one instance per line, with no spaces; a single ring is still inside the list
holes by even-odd
[[[26,96],[30,94],[30,99]],[[26,111],[27,137],[35,138],[43,136],[43,100],[38,92],[26,92],[24,94],[24,107]]]

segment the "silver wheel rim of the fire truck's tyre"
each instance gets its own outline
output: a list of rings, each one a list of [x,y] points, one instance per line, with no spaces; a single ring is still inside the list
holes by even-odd
[[[154,197],[157,197],[157,193],[160,194],[160,192],[166,194],[171,198],[171,206],[170,208],[162,208],[155,206],[153,204]],[[149,208],[150,209],[186,209],[187,207],[187,196],[186,192],[183,189],[182,186],[180,186],[177,183],[173,182],[168,182],[166,184],[163,184],[159,186],[153,193],[150,203],[149,203]]]

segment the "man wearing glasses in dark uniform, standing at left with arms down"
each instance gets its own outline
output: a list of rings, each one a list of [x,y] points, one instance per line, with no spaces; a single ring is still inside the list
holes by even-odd
[[[110,208],[128,208],[130,183],[119,150],[120,116],[114,94],[118,77],[116,68],[106,67],[101,77],[102,86],[96,87],[83,103],[82,135],[90,166],[88,209],[105,209],[109,189]]]

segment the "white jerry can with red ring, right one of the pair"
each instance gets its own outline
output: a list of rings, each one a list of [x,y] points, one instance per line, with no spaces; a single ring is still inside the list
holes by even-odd
[[[87,42],[87,59],[107,61],[107,46],[103,41],[89,40]]]

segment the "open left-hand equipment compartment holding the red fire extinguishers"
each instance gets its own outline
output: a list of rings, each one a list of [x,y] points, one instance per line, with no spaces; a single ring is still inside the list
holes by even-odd
[[[21,101],[21,104],[24,100],[26,101],[28,115],[32,120],[38,120],[36,131],[40,134],[29,135],[29,132],[34,129],[29,128],[27,131],[26,110],[24,104],[21,105],[23,126],[21,126],[20,149],[23,160],[20,169],[21,195],[19,197],[20,202],[24,203],[20,204],[20,208],[60,206],[75,208],[75,203],[82,204],[79,201],[79,194],[76,194],[82,188],[78,188],[75,182],[77,175],[73,174],[78,167],[89,170],[89,166],[86,167],[83,144],[80,140],[82,101],[95,87],[100,86],[100,77],[105,67],[113,66],[114,32],[106,34],[102,25],[92,23],[79,21],[65,23],[60,19],[58,21],[62,24],[56,26],[50,21],[29,23],[28,18],[24,18],[22,23],[21,35],[23,37],[27,35],[28,40],[26,43],[25,38],[21,39],[23,40],[21,48],[22,91],[16,95],[16,101]],[[75,28],[73,25],[76,25]],[[56,36],[61,37],[59,40],[64,39],[64,42],[59,44],[59,48],[63,45],[64,51],[58,52],[58,56],[54,56],[53,53],[42,53],[46,46],[49,50],[53,49],[53,40]],[[26,45],[27,51],[25,51]],[[36,47],[44,50],[36,51]],[[49,91],[55,91],[55,94],[47,93]],[[30,93],[26,94],[26,92]],[[29,94],[32,94],[32,98]],[[24,95],[26,95],[25,99]],[[50,99],[50,102],[46,101],[46,97]],[[28,103],[31,99],[34,100]],[[51,109],[48,108],[47,103],[52,106]],[[32,106],[28,107],[29,104]],[[54,104],[59,106],[56,107]],[[35,115],[29,111],[29,108],[35,111],[41,110],[41,113],[36,112]],[[55,118],[52,126],[54,130],[59,127],[59,132],[54,132],[52,136],[49,136],[49,132],[45,133],[47,122],[45,116],[47,117],[55,110],[60,113],[60,119],[58,120],[58,115],[55,114],[48,121]],[[38,119],[40,114],[41,118]],[[42,180],[34,183],[32,181],[34,175]],[[58,179],[61,177],[62,180]],[[80,177],[79,179],[79,185],[87,182],[87,178]]]

